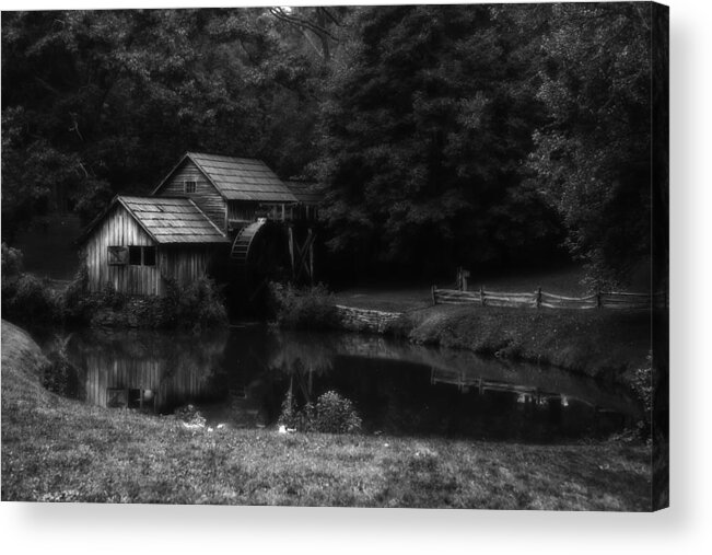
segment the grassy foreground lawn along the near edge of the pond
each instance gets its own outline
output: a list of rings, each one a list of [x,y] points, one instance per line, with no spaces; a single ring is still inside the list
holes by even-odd
[[[650,450],[187,430],[44,390],[37,345],[2,323],[2,500],[630,510]]]

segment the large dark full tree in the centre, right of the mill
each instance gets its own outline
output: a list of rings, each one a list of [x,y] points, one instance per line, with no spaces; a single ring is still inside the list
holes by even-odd
[[[524,162],[534,31],[486,5],[363,8],[323,106],[330,246],[427,274],[550,251]]]

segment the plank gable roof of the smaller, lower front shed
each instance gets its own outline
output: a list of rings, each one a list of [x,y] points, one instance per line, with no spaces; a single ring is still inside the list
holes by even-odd
[[[227,242],[220,229],[189,198],[125,195],[114,197],[106,210],[89,224],[80,242],[89,238],[117,204],[126,208],[143,231],[159,244]]]

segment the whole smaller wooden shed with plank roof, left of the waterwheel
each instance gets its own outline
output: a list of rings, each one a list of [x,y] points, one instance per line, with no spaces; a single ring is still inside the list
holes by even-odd
[[[186,286],[225,256],[224,233],[189,198],[117,196],[84,231],[80,245],[89,290],[106,284],[127,294]]]

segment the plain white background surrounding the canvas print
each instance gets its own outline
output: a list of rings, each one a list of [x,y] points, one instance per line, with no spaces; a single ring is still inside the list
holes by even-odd
[[[225,7],[156,1],[151,7]],[[243,5],[270,2],[242,2]],[[314,2],[285,2],[315,4]],[[364,3],[364,2],[330,2]],[[382,2],[396,3],[396,2]],[[397,2],[404,3],[404,2]],[[412,2],[411,2],[412,3]],[[452,2],[448,2],[452,3]],[[8,504],[5,553],[710,553],[710,2],[670,0],[672,504],[655,514]],[[135,8],[17,1],[10,9]]]

